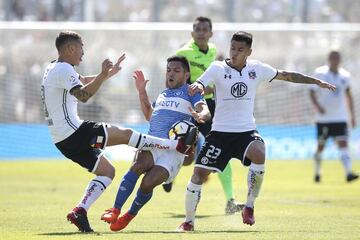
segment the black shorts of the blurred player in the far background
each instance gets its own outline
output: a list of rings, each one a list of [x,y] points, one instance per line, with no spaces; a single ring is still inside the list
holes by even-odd
[[[318,141],[326,141],[329,137],[335,139],[347,138],[348,128],[346,122],[316,123]]]

